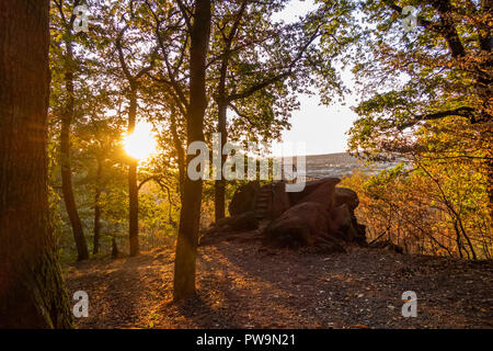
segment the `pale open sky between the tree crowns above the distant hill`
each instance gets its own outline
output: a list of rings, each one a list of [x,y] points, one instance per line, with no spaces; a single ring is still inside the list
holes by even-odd
[[[286,22],[295,21],[298,15],[313,9],[312,1],[293,0],[287,8],[278,14]],[[351,89],[353,76],[345,71],[342,75],[344,83]],[[300,109],[293,113],[290,118],[291,128],[283,133],[283,144],[286,148],[291,146],[296,150],[296,143],[305,143],[305,155],[321,155],[346,151],[347,135],[353,122],[357,118],[356,113],[351,110],[355,104],[355,95],[345,97],[345,105],[333,103],[329,106],[319,104],[319,97],[300,94]],[[282,145],[273,145],[282,149]],[[301,154],[295,151],[295,154]]]

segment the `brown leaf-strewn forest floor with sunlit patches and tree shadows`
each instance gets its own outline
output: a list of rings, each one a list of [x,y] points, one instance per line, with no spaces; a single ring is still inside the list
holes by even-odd
[[[493,328],[493,262],[351,247],[313,254],[228,241],[200,247],[197,295],[172,302],[174,251],[65,265],[89,294],[78,328]],[[405,291],[417,317],[401,314]]]

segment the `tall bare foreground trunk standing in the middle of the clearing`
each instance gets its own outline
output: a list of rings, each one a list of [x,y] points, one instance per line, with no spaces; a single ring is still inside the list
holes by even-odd
[[[204,113],[207,105],[205,71],[210,35],[210,0],[195,1],[195,16],[191,30],[190,105],[186,116],[187,144],[204,140]],[[194,158],[188,155],[187,165]],[[174,299],[195,293],[195,264],[198,225],[200,219],[202,179],[185,179],[174,265]]]

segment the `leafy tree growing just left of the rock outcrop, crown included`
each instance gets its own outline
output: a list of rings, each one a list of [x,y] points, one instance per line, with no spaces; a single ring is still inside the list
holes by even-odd
[[[270,143],[289,128],[288,117],[297,93],[309,93],[317,77],[330,91],[329,102],[341,93],[332,59],[346,46],[352,4],[330,3],[295,23],[273,16],[287,1],[225,1],[215,7],[211,44],[211,95],[217,114],[221,149],[228,140],[248,135],[252,141]],[[325,46],[316,42],[324,38]],[[337,46],[329,46],[334,42]],[[323,48],[323,49],[322,49]],[[228,111],[233,112],[228,118]],[[241,138],[240,137],[240,138]],[[227,159],[221,155],[221,168]],[[215,182],[215,217],[225,217],[226,181]]]

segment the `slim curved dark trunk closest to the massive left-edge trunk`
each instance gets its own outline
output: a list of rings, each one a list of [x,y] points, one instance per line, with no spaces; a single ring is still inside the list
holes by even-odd
[[[68,101],[66,110],[61,117],[60,131],[60,166],[61,166],[61,192],[64,193],[65,207],[72,227],[73,238],[76,240],[78,260],[89,259],[88,245],[85,242],[82,223],[77,212],[76,199],[73,196],[72,172],[70,169],[70,126],[73,120],[74,98],[73,98],[73,54],[71,43],[66,42],[67,46],[67,66],[65,72],[65,88],[67,90]]]

